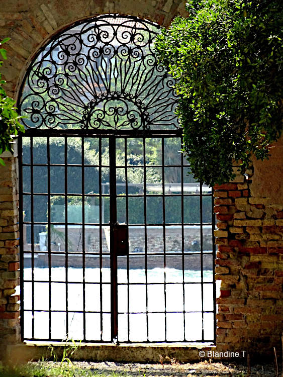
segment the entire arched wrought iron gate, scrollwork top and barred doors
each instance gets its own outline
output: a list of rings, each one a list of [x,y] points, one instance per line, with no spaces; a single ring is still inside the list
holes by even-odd
[[[134,17],[97,17],[56,36],[27,71],[23,339],[215,339],[212,191],[179,153],[157,32]]]

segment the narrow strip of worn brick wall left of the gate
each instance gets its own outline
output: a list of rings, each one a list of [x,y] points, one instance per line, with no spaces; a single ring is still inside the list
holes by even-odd
[[[5,152],[0,165],[0,358],[7,344],[20,341],[18,158]]]

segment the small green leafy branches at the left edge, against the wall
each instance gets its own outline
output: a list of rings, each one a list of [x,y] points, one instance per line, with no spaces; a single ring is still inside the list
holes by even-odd
[[[0,47],[10,38],[5,38],[0,42]],[[7,51],[4,48],[0,48],[0,54],[3,59],[7,59]],[[3,61],[0,61],[0,67],[3,65]],[[19,131],[24,132],[24,127],[19,123],[19,119],[15,108],[15,101],[7,96],[3,84],[5,80],[2,80],[0,73],[0,154],[5,151],[13,152],[13,135],[17,135]],[[0,158],[0,164],[5,165],[2,158]]]

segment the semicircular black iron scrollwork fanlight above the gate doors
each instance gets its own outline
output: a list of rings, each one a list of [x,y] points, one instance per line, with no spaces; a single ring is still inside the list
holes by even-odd
[[[56,35],[26,72],[26,128],[175,129],[174,79],[157,64],[159,26],[104,15]]]

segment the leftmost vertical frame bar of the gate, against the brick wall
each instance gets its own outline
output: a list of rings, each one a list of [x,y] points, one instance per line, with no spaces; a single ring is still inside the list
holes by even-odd
[[[24,219],[23,219],[23,136],[18,139],[19,161],[19,230],[20,230],[20,295],[21,340],[24,341]]]

